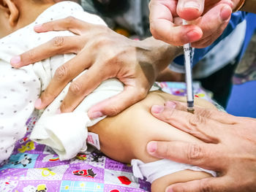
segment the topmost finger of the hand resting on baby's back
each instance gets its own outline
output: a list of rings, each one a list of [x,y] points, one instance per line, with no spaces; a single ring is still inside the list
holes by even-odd
[[[34,31],[37,31],[38,33],[47,31],[71,31],[74,34],[80,35],[83,30],[89,30],[90,27],[90,23],[86,23],[70,16],[68,18],[53,20],[48,23],[34,26]]]

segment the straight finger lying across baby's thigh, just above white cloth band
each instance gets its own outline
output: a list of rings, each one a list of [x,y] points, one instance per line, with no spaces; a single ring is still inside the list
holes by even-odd
[[[167,158],[182,164],[201,166],[204,169],[221,170],[218,145],[188,142],[148,142],[147,151],[157,158]]]

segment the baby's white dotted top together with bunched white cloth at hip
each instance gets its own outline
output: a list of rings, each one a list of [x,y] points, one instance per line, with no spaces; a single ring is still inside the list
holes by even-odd
[[[0,163],[10,156],[15,142],[26,134],[26,120],[34,110],[34,102],[45,90],[56,69],[75,55],[56,55],[21,69],[13,69],[10,59],[48,42],[53,37],[73,36],[69,31],[39,34],[34,32],[36,24],[68,16],[105,25],[98,16],[83,12],[79,4],[63,1],[42,12],[34,23],[0,39]],[[58,115],[56,111],[67,93],[68,86],[42,112],[31,134],[31,139],[53,147],[62,160],[72,158],[80,150],[86,149],[86,126],[97,122],[91,122],[86,115],[89,107],[123,90],[123,85],[118,80],[106,80],[94,93],[86,97],[74,113]]]

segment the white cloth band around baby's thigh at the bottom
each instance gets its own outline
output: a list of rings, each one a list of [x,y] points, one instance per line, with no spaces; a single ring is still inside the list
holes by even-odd
[[[200,168],[198,166],[192,166],[189,164],[180,164],[175,161],[170,161],[167,159],[161,159],[159,161],[154,161],[148,164],[144,164],[143,161],[138,159],[132,159],[132,172],[135,177],[143,179],[146,177],[147,181],[153,183],[160,177],[164,177],[167,174],[172,174],[175,172],[180,172],[185,169],[197,171],[197,172],[207,172],[214,177],[217,177],[216,172],[207,169]]]

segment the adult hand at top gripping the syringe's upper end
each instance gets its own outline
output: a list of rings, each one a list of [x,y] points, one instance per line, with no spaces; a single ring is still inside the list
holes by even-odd
[[[151,0],[150,28],[156,39],[172,45],[211,45],[230,20],[238,0]],[[181,18],[191,20],[182,26]]]

